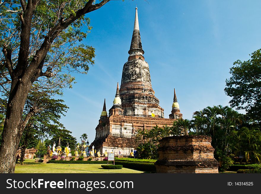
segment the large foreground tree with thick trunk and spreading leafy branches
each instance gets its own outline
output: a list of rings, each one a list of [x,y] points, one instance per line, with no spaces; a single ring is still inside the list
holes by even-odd
[[[99,9],[109,0],[89,1],[3,1],[0,5],[1,84],[9,94],[6,106],[0,173],[14,173],[15,154],[27,122],[35,107],[23,118],[23,109],[32,90],[71,86],[70,72],[88,70],[94,49],[79,44],[88,29],[86,13]],[[81,70],[84,71],[81,71]],[[58,78],[58,79],[57,79]],[[5,86],[7,84],[7,86]]]

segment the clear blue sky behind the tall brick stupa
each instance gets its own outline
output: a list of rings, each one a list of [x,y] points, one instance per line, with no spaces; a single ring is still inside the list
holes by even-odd
[[[229,68],[261,48],[260,0],[147,1],[110,1],[86,15],[93,29],[83,43],[96,49],[95,64],[87,75],[74,75],[77,83],[64,91],[70,108],[61,119],[78,141],[82,133],[94,140],[104,98],[107,112],[112,107],[128,59],[136,4],[145,61],[165,118],[174,88],[184,119],[206,106],[229,105],[224,92]]]

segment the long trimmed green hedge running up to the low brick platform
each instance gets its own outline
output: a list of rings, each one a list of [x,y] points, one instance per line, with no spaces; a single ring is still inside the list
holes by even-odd
[[[141,162],[127,162],[115,160],[115,164],[122,165],[124,168],[130,168],[139,171],[156,171],[156,167],[153,163],[141,163]]]

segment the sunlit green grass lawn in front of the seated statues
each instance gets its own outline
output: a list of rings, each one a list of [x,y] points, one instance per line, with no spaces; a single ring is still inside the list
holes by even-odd
[[[17,164],[15,173],[143,173],[128,168],[103,169],[101,164],[44,164],[26,159],[24,165]]]

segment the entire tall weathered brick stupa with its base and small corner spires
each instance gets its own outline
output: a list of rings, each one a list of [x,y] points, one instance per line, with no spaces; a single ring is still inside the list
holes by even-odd
[[[176,119],[182,118],[176,93],[169,119],[164,118],[164,110],[159,105],[152,89],[149,64],[144,59],[139,31],[138,8],[136,8],[133,35],[128,51],[128,61],[123,65],[122,79],[109,115],[106,104],[96,127],[96,137],[90,146],[104,153],[112,150],[116,155],[129,155],[136,149],[135,134],[139,129],[150,130],[158,125],[172,126]],[[116,85],[116,84],[115,84]]]

